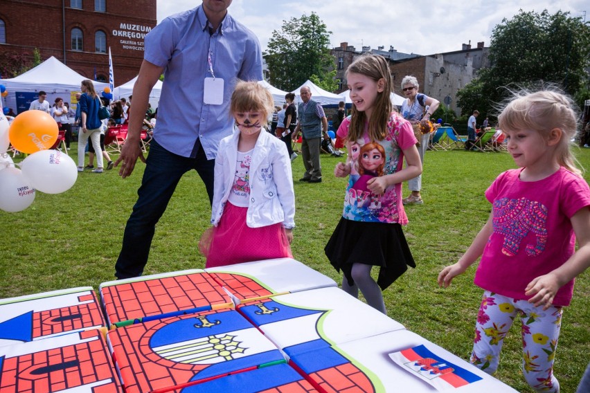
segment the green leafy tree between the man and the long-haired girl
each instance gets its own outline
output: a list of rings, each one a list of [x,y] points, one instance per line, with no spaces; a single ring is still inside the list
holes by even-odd
[[[315,12],[283,21],[280,30],[273,30],[263,54],[270,83],[278,89],[292,91],[316,75],[319,82],[329,86],[329,80],[334,78],[330,71],[336,68],[330,55],[331,34]]]

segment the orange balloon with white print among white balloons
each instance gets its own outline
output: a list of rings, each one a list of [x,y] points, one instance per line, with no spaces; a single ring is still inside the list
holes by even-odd
[[[19,152],[35,153],[53,146],[57,140],[57,122],[49,113],[29,110],[12,121],[8,139]]]

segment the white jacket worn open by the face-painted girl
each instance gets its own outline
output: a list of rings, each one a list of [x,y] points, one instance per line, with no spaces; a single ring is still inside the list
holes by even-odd
[[[215,158],[215,185],[211,223],[217,226],[235,178],[240,131],[220,142]],[[295,227],[295,192],[291,161],[285,143],[262,129],[252,152],[250,196],[246,224],[260,228],[283,223]]]

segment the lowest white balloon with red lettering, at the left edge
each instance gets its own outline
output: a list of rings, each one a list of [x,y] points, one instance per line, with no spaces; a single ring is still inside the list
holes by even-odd
[[[0,171],[0,209],[20,212],[35,201],[35,188],[30,185],[21,170],[8,167]]]

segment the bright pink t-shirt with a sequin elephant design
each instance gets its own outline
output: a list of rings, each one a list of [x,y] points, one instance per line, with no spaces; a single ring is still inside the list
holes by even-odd
[[[575,250],[571,217],[590,206],[590,188],[563,167],[540,181],[521,181],[522,169],[508,170],[485,191],[492,203],[494,232],[475,275],[475,284],[500,295],[528,300],[524,289],[535,277],[562,266]],[[574,280],[555,295],[568,306]]]

